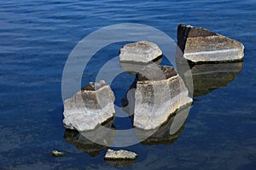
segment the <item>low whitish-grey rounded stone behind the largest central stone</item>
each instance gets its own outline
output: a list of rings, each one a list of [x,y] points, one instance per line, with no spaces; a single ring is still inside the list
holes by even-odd
[[[120,49],[120,62],[148,63],[160,58],[162,51],[154,42],[132,42]]]

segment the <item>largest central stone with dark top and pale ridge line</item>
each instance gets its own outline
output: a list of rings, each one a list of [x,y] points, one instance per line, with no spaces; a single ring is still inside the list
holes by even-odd
[[[133,126],[144,130],[160,127],[178,108],[192,102],[181,77],[172,66],[148,68],[123,99],[124,110],[133,115]],[[134,88],[136,88],[134,90]]]

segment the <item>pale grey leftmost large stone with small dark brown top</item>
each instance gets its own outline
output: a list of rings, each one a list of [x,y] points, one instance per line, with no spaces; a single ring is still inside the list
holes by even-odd
[[[90,82],[65,100],[64,126],[78,131],[95,129],[114,116],[113,101],[113,91],[106,82]]]

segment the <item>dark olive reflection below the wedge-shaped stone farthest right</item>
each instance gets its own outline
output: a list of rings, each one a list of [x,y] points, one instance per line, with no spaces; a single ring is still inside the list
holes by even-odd
[[[236,79],[243,62],[193,65],[194,96],[206,95],[217,88],[226,87]]]

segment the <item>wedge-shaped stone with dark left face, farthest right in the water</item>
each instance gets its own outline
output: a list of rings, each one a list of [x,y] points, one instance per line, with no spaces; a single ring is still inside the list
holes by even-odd
[[[195,63],[241,60],[244,55],[241,42],[205,28],[183,24],[177,26],[177,45],[183,57]]]

